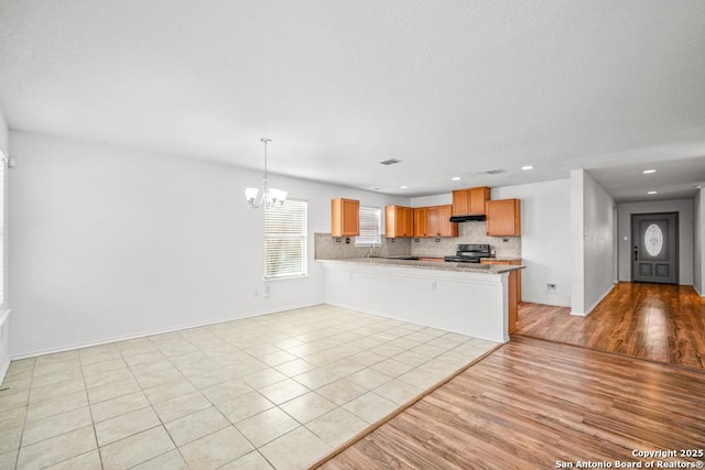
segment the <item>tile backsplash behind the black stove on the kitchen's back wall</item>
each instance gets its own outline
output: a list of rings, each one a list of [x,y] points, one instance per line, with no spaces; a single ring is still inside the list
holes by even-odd
[[[436,242],[436,240],[440,241]],[[460,243],[488,243],[495,249],[497,256],[521,258],[521,237],[488,237],[484,221],[458,223],[457,238],[411,239],[411,254],[433,256],[455,254]]]

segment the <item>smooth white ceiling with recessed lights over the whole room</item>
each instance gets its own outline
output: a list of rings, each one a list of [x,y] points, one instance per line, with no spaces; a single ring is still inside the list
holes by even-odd
[[[692,197],[705,2],[0,0],[0,109],[250,168],[269,136],[273,173],[389,194],[583,167],[618,200]]]

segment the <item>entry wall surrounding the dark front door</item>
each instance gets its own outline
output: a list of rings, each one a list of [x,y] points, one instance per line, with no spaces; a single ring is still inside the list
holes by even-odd
[[[623,203],[619,210],[619,281],[631,281],[631,215],[679,212],[679,284],[693,284],[693,199]],[[626,238],[626,240],[625,240]]]

